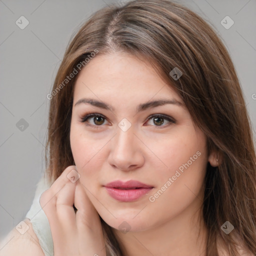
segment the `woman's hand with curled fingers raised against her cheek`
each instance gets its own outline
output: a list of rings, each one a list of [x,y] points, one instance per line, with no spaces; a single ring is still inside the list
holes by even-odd
[[[40,197],[52,235],[54,256],[105,256],[105,244],[99,215],[78,178],[71,182],[68,166]],[[76,213],[73,204],[77,209]]]

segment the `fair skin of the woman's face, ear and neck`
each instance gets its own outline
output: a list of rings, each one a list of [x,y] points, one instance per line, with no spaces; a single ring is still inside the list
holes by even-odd
[[[106,102],[113,109],[75,105],[83,97]],[[184,105],[136,111],[138,104],[160,98],[183,104],[145,61],[114,53],[97,55],[87,63],[75,82],[70,126],[79,181],[95,210],[112,227],[124,255],[204,255],[206,230],[199,213],[206,164],[210,161],[214,166],[215,155],[208,155],[206,137],[194,127]],[[101,114],[103,119],[95,123],[92,116],[81,122],[87,113]],[[147,120],[150,114],[165,114],[175,122],[163,119],[159,126],[159,120]],[[118,126],[123,118],[131,124],[126,131]],[[200,156],[149,201],[196,152]],[[134,179],[153,188],[136,201],[120,202],[103,187],[117,179]],[[119,230],[123,221],[128,223],[128,232]]]

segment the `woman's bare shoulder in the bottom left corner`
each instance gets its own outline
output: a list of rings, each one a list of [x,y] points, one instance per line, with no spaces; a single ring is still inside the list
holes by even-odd
[[[30,220],[25,218],[16,227],[0,241],[0,256],[44,256]]]

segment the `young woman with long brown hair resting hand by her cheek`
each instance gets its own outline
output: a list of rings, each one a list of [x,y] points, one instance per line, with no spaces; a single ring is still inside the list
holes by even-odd
[[[202,18],[167,0],[102,8],[47,97],[50,187],[37,202],[54,255],[256,254],[249,118]],[[31,254],[47,254],[40,244]]]

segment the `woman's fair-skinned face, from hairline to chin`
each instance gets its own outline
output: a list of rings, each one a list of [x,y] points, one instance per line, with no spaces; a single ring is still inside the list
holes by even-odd
[[[89,113],[99,116],[82,122]],[[85,192],[114,228],[153,228],[201,203],[206,137],[178,94],[132,55],[97,55],[80,71],[70,143]]]

